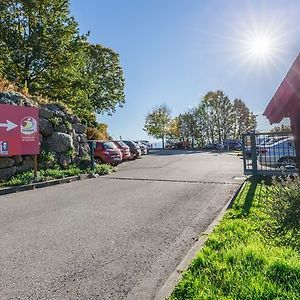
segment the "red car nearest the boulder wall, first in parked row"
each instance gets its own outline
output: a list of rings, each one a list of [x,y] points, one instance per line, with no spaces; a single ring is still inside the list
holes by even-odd
[[[94,155],[95,159],[107,164],[117,165],[122,162],[121,150],[111,141],[96,141]]]

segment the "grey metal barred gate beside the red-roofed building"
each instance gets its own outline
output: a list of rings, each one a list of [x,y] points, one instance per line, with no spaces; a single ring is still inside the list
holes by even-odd
[[[291,132],[243,134],[242,149],[245,175],[287,175],[298,172]]]

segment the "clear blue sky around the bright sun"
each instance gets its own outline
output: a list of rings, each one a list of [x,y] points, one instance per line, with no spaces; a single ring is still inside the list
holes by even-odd
[[[300,49],[299,0],[71,0],[71,14],[91,43],[120,54],[126,104],[98,118],[114,138],[151,140],[142,128],[153,106],[177,115],[210,90],[261,115]],[[268,53],[254,53],[257,36]]]

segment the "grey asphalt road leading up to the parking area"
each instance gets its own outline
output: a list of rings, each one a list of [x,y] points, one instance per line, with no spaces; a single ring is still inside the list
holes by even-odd
[[[235,155],[158,151],[0,197],[0,299],[153,299],[241,173]]]

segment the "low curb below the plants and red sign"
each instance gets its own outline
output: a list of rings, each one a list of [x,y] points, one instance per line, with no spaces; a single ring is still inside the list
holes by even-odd
[[[82,174],[82,175],[78,175],[78,176],[71,176],[71,177],[66,177],[66,178],[61,178],[61,179],[54,179],[54,180],[36,182],[36,183],[31,183],[31,184],[26,184],[26,185],[7,187],[7,188],[0,189],[0,196],[12,194],[12,193],[30,191],[30,190],[34,190],[34,189],[40,189],[43,187],[53,186],[53,185],[58,185],[58,184],[63,184],[63,183],[70,183],[73,181],[84,180],[84,179],[88,179],[88,178],[92,178],[92,176],[90,174]]]

